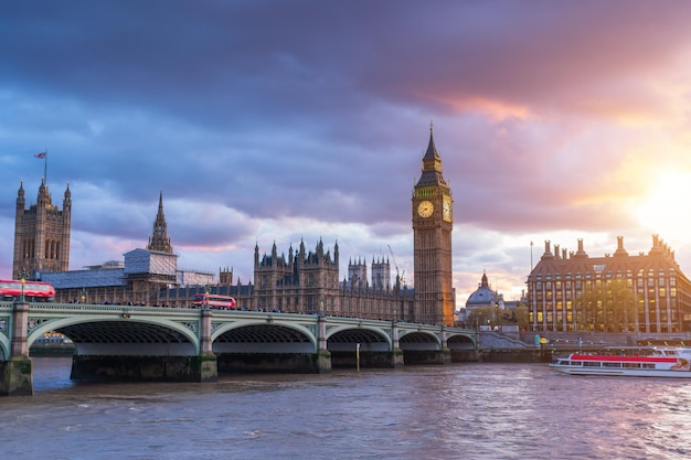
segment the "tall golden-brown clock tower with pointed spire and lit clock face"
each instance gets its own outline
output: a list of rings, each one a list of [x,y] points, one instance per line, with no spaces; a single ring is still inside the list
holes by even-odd
[[[430,126],[423,172],[413,190],[414,321],[454,325],[453,217],[451,189],[442,175],[442,158]]]

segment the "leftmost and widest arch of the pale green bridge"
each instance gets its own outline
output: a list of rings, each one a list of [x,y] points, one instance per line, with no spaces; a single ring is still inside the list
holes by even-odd
[[[77,355],[196,356],[198,323],[182,324],[157,318],[70,317],[42,322],[29,331],[31,346],[45,332],[70,338]]]

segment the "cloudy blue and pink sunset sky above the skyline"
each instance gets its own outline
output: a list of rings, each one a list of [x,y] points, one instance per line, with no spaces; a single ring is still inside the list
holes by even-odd
[[[0,2],[0,277],[20,183],[72,192],[70,268],[146,247],[386,258],[414,285],[430,124],[454,194],[457,307],[518,299],[544,242],[653,234],[691,274],[691,2]],[[47,163],[34,156],[47,149]],[[534,246],[531,246],[531,242]]]

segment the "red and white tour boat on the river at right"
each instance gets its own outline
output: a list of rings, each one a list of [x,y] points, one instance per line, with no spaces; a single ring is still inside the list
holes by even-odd
[[[571,375],[691,378],[691,347],[623,349],[635,349],[636,352],[634,355],[572,353],[557,357],[550,367]]]

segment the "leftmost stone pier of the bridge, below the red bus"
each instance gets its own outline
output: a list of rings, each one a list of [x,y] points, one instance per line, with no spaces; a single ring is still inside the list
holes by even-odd
[[[12,321],[12,342],[10,359],[2,363],[0,396],[33,395],[33,363],[29,357],[26,331],[29,324],[29,303],[14,302]]]

